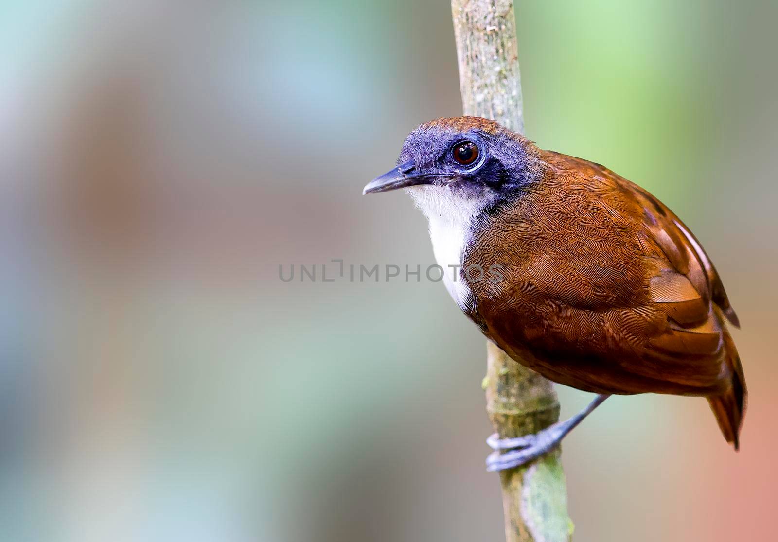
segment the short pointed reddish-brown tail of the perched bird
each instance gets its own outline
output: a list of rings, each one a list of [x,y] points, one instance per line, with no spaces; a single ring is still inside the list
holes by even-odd
[[[710,409],[716,415],[721,432],[724,433],[724,439],[734,444],[734,449],[739,446],[740,428],[743,425],[745,417],[745,404],[748,392],[745,389],[745,375],[740,363],[740,356],[737,348],[734,347],[734,341],[730,337],[724,322],[721,322],[724,331],[724,352],[730,372],[730,386],[727,391],[721,395],[708,397]]]

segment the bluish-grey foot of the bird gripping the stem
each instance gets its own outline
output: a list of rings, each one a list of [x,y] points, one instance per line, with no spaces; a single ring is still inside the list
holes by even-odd
[[[489,447],[495,450],[486,458],[486,470],[506,470],[529,463],[554,449],[566,434],[565,422],[516,439],[499,439],[495,433],[486,439]]]

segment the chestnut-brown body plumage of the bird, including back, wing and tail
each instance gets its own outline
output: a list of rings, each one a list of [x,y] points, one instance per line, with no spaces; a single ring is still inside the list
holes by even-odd
[[[706,396],[738,447],[745,378],[724,318],[738,326],[703,248],[665,205],[604,166],[526,149],[542,182],[485,215],[464,267],[471,318],[512,358],[595,393]]]

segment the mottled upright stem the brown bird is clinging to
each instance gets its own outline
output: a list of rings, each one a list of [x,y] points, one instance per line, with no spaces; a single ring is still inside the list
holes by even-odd
[[[464,114],[524,132],[513,0],[451,0]],[[559,420],[552,384],[487,344],[487,411],[500,438],[538,432]],[[569,540],[559,450],[500,473],[507,542]]]

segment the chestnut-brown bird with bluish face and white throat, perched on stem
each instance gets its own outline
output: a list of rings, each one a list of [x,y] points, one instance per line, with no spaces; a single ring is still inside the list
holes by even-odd
[[[429,219],[443,282],[482,333],[598,394],[534,435],[492,435],[488,470],[548,453],[614,394],[706,397],[738,449],[747,391],[727,329],[738,316],[699,240],[652,194],[482,117],[419,125],[363,194],[398,188]]]

